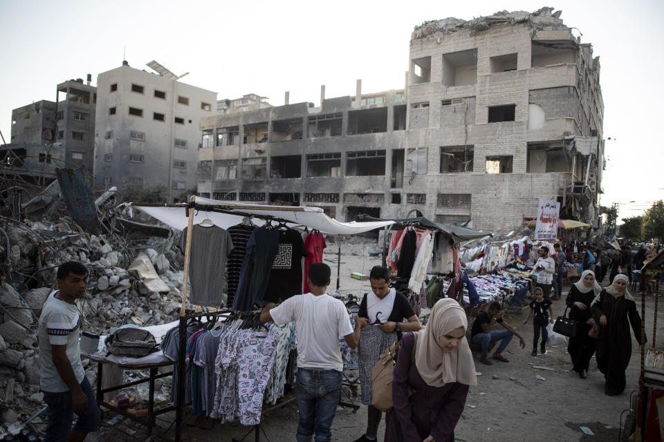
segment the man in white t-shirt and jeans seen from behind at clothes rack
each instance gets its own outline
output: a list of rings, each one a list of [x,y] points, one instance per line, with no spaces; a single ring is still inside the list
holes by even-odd
[[[316,262],[309,267],[310,293],[288,298],[278,307],[272,302],[261,311],[261,322],[282,326],[295,321],[297,330],[297,381],[299,410],[297,442],[330,441],[330,427],[341,397],[344,363],[339,340],[355,348],[360,326],[353,332],[344,303],[326,294],[330,267]]]

